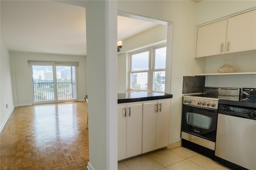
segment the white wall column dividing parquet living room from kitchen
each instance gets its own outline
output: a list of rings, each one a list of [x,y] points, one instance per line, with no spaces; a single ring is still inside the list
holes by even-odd
[[[86,4],[87,168],[117,169],[117,1]]]

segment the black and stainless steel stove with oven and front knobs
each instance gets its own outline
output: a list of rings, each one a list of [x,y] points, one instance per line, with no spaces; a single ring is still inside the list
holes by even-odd
[[[181,138],[182,146],[214,157],[218,100],[239,99],[240,89],[204,87],[202,94],[183,96]]]

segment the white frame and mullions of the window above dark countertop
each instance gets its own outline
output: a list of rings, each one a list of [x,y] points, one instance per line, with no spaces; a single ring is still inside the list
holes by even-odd
[[[163,91],[154,91],[154,82],[153,82],[153,73],[156,71],[166,71],[166,66],[164,68],[159,68],[155,69],[155,50],[159,48],[167,47],[166,43],[160,43],[158,45],[152,45],[150,47],[146,47],[143,49],[131,51],[128,53],[128,91],[144,91],[144,92],[153,92],[153,93],[164,93]],[[137,70],[137,71],[132,71],[132,55],[138,54],[138,53],[143,53],[143,52],[149,52],[148,56],[148,69],[144,70]],[[148,85],[147,85],[147,90],[142,90],[142,89],[132,89],[131,88],[131,74],[132,73],[148,73]]]

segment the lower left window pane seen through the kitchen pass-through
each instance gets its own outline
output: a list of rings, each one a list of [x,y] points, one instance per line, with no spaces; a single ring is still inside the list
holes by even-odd
[[[147,90],[148,89],[148,73],[131,73],[130,74],[130,88],[131,89],[140,89]]]

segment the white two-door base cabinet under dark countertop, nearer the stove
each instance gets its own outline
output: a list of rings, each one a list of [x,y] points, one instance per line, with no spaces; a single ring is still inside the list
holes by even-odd
[[[169,144],[170,99],[143,103],[142,153]]]

